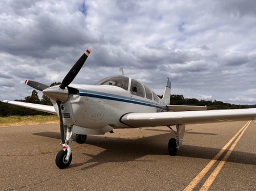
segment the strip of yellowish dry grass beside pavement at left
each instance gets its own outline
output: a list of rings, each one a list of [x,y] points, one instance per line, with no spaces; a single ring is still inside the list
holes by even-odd
[[[55,124],[59,122],[58,116],[10,116],[0,117],[0,126]]]

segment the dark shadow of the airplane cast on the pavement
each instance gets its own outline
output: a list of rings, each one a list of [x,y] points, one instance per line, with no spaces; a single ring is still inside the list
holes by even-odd
[[[34,135],[60,139],[60,133],[50,131],[34,133]],[[150,161],[139,160],[139,158],[146,155],[168,155],[167,144],[171,137],[174,137],[174,134],[171,134],[170,131],[166,134],[142,138],[113,138],[107,136],[100,137],[97,135],[88,135],[85,144],[104,148],[105,150],[97,155],[81,152],[83,155],[89,156],[91,159],[86,160],[84,163],[71,164],[71,167],[89,164],[87,167],[82,168],[82,170],[86,170],[96,167],[102,163],[122,163],[134,160],[142,162]],[[177,156],[168,157],[170,157],[170,160],[176,160],[180,157],[213,159],[219,151],[220,148],[182,145],[180,150],[177,152]],[[225,153],[226,152],[224,152],[224,154]],[[253,153],[232,151],[232,155],[230,155],[228,162],[256,165],[255,158],[256,154]],[[182,160],[182,158],[180,158],[180,160]],[[219,160],[221,160],[221,158]]]

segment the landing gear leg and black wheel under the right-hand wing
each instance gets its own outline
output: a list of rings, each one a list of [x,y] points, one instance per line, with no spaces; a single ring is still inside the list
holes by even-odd
[[[177,154],[177,151],[179,150],[179,146],[181,146],[184,133],[185,133],[185,125],[176,125],[177,131],[174,131],[171,128],[171,125],[167,125],[169,129],[171,129],[176,134],[176,139],[171,138],[168,142],[168,152],[169,155],[175,156]]]

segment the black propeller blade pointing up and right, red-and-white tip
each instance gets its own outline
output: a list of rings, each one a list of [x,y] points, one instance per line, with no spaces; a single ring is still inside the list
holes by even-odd
[[[76,75],[79,73],[82,65],[84,65],[84,62],[88,58],[89,54],[90,54],[90,50],[88,49],[88,50],[86,50],[86,52],[84,54],[82,54],[82,56],[75,63],[75,65],[72,67],[72,69],[69,70],[68,74],[65,76],[65,78],[63,79],[63,81],[60,84],[60,88],[62,90],[64,90],[65,87],[67,87],[73,81],[73,79],[75,79]]]

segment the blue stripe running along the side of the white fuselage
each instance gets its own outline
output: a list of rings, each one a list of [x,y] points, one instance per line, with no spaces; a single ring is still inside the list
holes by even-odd
[[[158,109],[163,109],[167,111],[165,105],[156,104],[154,102],[135,99],[133,97],[126,97],[126,96],[119,96],[115,94],[108,94],[104,92],[97,92],[97,91],[90,91],[90,90],[79,90],[80,96],[88,96],[88,97],[96,97],[99,99],[106,99],[106,100],[114,100],[114,101],[122,101],[126,103],[138,104],[138,105],[146,105],[148,107],[155,107]]]

